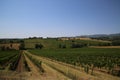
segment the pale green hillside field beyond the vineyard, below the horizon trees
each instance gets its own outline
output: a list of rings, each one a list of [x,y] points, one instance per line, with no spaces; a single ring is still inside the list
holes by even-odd
[[[59,40],[55,38],[48,39],[25,39],[25,48],[35,48],[35,44],[42,44],[46,49],[56,49],[59,45],[66,45],[66,48],[70,48],[73,43],[86,44],[87,46],[98,46],[108,45],[110,41],[99,41],[99,40]]]

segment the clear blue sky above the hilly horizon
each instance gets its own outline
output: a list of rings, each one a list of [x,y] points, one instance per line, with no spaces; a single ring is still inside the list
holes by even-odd
[[[120,0],[0,0],[0,38],[120,32]]]

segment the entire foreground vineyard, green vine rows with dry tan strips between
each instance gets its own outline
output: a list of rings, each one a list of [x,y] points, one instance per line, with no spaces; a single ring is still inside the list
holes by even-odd
[[[53,50],[43,49],[29,51],[30,52],[28,52],[27,50],[1,51],[0,80],[120,79],[120,77],[117,77],[117,75],[119,76],[119,49],[110,50],[81,48]],[[117,69],[115,76],[112,76],[111,72],[108,73],[108,65],[106,65],[107,68],[98,68],[98,66],[95,66],[94,70],[92,71],[92,65],[90,66],[88,62],[94,62],[92,60],[100,62],[101,59],[105,60],[102,63],[107,63],[107,61],[111,61],[109,63],[114,63],[114,67],[112,67],[112,69]],[[2,63],[2,61],[4,61],[4,64]],[[83,63],[83,65],[81,65],[81,62]]]

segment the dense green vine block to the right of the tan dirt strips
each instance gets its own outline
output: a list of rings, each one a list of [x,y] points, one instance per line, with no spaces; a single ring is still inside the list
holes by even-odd
[[[31,53],[53,60],[80,66],[86,73],[95,70],[120,77],[120,49],[77,48],[29,50]]]

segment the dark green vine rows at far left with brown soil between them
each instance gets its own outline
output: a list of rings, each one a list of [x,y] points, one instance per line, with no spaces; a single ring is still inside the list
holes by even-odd
[[[0,51],[0,80],[26,79],[30,69],[22,53],[18,50]]]

